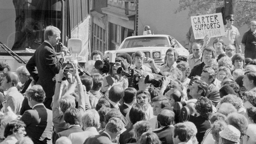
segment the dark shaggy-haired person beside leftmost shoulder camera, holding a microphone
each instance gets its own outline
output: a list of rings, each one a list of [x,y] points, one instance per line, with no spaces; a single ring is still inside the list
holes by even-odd
[[[115,78],[117,82],[123,83],[122,86],[124,89],[128,87],[128,80],[122,74],[117,74],[117,69],[119,67],[122,67],[123,70],[126,70],[127,66],[128,66],[128,63],[125,61],[125,59],[121,57],[117,57],[115,58],[115,64],[110,65],[110,68],[109,68],[109,74],[111,75],[111,77]]]

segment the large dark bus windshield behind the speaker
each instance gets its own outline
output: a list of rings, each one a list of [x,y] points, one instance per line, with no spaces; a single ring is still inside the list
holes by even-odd
[[[0,0],[0,13],[0,42],[18,55],[34,53],[44,41],[46,26],[62,30],[59,0]],[[0,55],[8,55],[2,47]]]

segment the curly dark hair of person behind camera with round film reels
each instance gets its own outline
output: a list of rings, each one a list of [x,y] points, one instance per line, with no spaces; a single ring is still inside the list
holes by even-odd
[[[198,101],[195,103],[195,109],[203,118],[209,119],[213,112],[212,105],[213,104],[210,99],[206,97],[199,97]]]

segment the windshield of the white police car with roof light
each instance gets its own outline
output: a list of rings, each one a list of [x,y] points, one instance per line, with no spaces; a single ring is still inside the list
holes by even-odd
[[[170,47],[170,44],[166,37],[128,38],[125,40],[120,49],[149,46]]]

